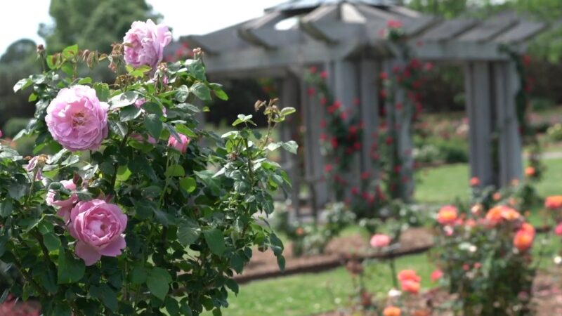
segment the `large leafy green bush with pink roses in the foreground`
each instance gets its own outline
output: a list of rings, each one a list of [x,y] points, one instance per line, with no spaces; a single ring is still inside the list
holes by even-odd
[[[221,315],[254,249],[285,265],[257,215],[289,186],[268,152],[296,152],[271,139],[294,109],[256,103],[266,134],[244,114],[222,136],[203,129],[193,104],[228,97],[200,50],[159,63],[170,40],[167,27],[135,22],[109,55],[39,50],[48,70],[15,85],[37,108],[18,137],[37,143],[33,158],[0,143],[0,263],[15,274],[0,305],[9,294],[43,315]],[[115,84],[78,72],[107,61]]]

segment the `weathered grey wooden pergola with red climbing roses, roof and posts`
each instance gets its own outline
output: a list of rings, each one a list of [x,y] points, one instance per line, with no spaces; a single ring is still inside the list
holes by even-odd
[[[296,107],[306,126],[305,167],[299,170],[296,157],[285,157],[294,181],[293,204],[299,209],[301,181],[313,183],[313,205],[329,200],[323,178],[320,153],[320,121],[324,109],[308,96],[303,74],[315,66],[327,71],[329,86],[336,100],[351,106],[360,100],[365,122],[363,150],[352,181],[359,172],[372,170],[369,148],[377,141],[372,132],[379,124],[379,107],[391,112],[394,104],[379,104],[379,72],[391,72],[400,64],[396,49],[381,37],[388,20],[402,22],[414,55],[431,62],[456,62],[464,67],[466,111],[470,132],[471,176],[482,185],[506,185],[521,178],[521,137],[516,118],[515,96],[520,88],[513,60],[502,47],[523,52],[526,43],[547,27],[542,22],[524,20],[512,13],[488,20],[457,18],[441,20],[424,15],[390,0],[293,0],[266,9],[261,18],[198,36],[182,37],[191,47],[206,53],[209,76],[214,80],[273,77],[278,81],[282,106]],[[285,22],[284,22],[285,21]],[[294,21],[280,29],[280,22]],[[405,98],[405,91],[394,91],[394,100]],[[388,117],[392,117],[389,115]],[[395,126],[396,122],[388,122]],[[398,124],[398,151],[403,176],[410,179],[403,197],[413,190],[412,136],[409,121]],[[285,124],[282,136],[289,140],[298,129]],[[499,169],[494,168],[492,133],[498,134]],[[376,173],[376,171],[374,171]],[[302,176],[302,175],[306,176]],[[459,179],[464,180],[464,179]]]

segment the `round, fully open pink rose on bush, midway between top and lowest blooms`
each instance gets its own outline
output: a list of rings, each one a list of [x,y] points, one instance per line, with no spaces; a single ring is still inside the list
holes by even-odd
[[[67,150],[97,150],[107,137],[107,103],[89,86],[71,86],[58,92],[47,107],[48,131]]]

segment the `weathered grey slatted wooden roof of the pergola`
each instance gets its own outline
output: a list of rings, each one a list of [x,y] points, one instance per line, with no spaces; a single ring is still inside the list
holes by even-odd
[[[211,74],[279,74],[289,67],[353,55],[392,56],[384,39],[388,20],[399,20],[424,60],[505,60],[499,46],[521,46],[547,25],[503,13],[487,20],[441,20],[388,0],[294,0],[263,16],[205,35],[182,37],[207,53]],[[294,19],[288,29],[277,23]],[[265,73],[264,73],[265,72]]]

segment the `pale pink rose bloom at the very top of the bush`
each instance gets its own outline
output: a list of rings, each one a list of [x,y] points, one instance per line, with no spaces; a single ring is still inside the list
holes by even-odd
[[[124,48],[127,65],[148,65],[156,70],[156,65],[164,57],[164,46],[171,42],[171,32],[166,25],[155,25],[150,19],[146,22],[135,21],[126,32],[123,42],[127,44]]]

